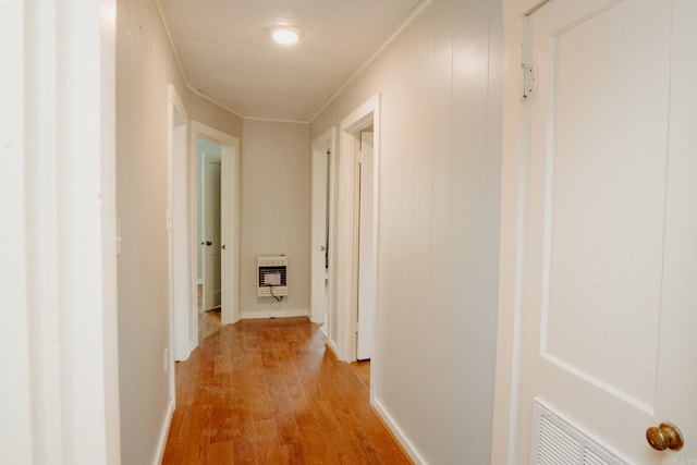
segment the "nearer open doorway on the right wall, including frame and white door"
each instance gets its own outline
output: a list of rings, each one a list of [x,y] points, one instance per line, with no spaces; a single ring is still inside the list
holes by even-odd
[[[346,362],[379,363],[376,344],[379,198],[379,96],[341,122],[338,159],[338,345]],[[370,380],[375,386],[376,380]],[[372,392],[372,390],[371,390]]]

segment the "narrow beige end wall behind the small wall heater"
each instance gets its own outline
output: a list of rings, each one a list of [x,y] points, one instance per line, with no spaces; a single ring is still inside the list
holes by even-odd
[[[309,126],[244,121],[240,308],[242,318],[309,315]],[[256,296],[258,255],[288,256],[288,297]]]

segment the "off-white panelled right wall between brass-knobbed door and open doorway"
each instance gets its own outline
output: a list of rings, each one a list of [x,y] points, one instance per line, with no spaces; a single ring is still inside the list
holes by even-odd
[[[429,464],[490,461],[499,3],[433,0],[311,124],[315,138],[381,95],[371,386],[407,449]]]

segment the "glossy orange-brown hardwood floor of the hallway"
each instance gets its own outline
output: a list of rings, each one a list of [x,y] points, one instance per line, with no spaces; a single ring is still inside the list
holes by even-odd
[[[243,320],[176,364],[163,464],[411,464],[307,318]]]

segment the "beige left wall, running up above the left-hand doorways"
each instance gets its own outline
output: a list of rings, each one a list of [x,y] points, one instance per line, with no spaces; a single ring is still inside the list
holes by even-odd
[[[241,136],[242,120],[189,91],[154,0],[118,0],[117,215],[121,220],[119,364],[124,464],[151,464],[169,428],[168,85],[193,120]],[[170,353],[171,353],[171,347]]]

